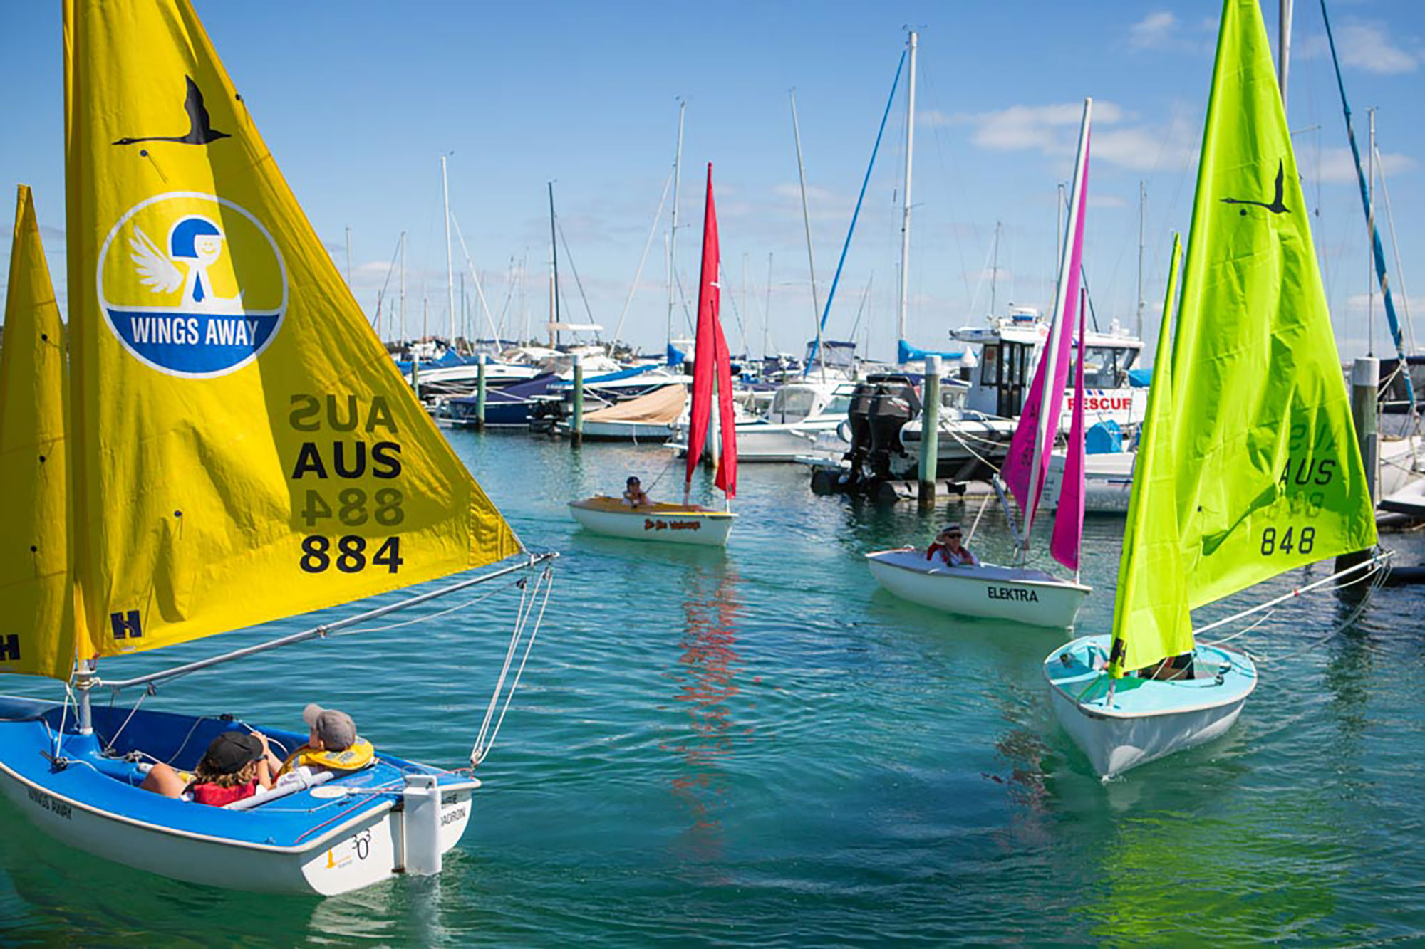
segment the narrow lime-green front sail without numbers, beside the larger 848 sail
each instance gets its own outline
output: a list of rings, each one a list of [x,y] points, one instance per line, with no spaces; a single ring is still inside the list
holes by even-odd
[[[1119,560],[1119,590],[1113,601],[1113,661],[1109,674],[1114,678],[1193,648],[1177,524],[1178,466],[1173,450],[1173,299],[1181,259],[1183,242],[1174,235],[1147,420],[1139,437],[1133,494]]]

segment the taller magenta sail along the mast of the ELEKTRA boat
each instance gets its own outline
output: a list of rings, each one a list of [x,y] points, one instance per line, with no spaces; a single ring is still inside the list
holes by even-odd
[[[1074,313],[1079,311],[1079,274],[1083,262],[1084,201],[1089,194],[1089,115],[1084,113],[1083,134],[1079,141],[1079,161],[1074,168],[1073,192],[1069,202],[1069,241],[1060,258],[1059,286],[1054,309],[1049,321],[1049,339],[1035,370],[1035,379],[1025,398],[1019,426],[1009,443],[1002,477],[1025,512],[1025,537],[1035,523],[1039,496],[1049,472],[1049,453],[1059,432],[1064,385],[1069,380],[1069,351],[1073,345]],[[1052,379],[1046,380],[1049,372]],[[1049,390],[1045,392],[1045,386]]]

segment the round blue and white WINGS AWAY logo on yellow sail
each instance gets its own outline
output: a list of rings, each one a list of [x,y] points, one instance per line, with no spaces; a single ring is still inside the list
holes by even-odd
[[[174,191],[128,209],[98,254],[104,321],[140,362],[211,378],[258,358],[282,326],[286,265],[227,198]]]

